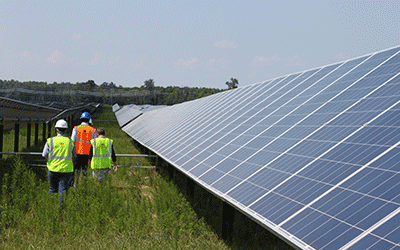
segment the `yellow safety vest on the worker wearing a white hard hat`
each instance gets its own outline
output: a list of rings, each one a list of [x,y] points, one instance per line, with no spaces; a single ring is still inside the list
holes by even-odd
[[[47,168],[52,172],[74,172],[72,163],[73,141],[65,136],[55,136],[47,139],[47,145],[49,146]]]

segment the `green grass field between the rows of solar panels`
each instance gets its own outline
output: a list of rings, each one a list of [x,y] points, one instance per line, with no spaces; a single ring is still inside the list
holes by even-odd
[[[117,154],[140,154],[111,107],[93,121],[114,140]],[[153,165],[143,157],[117,162]],[[119,168],[104,183],[81,178],[60,206],[58,194],[47,193],[45,169],[28,167],[21,157],[13,157],[10,169],[2,180],[0,249],[289,249],[275,239],[276,245],[260,247],[260,241],[271,239],[258,235],[258,242],[252,241],[251,232],[224,242],[162,170]]]

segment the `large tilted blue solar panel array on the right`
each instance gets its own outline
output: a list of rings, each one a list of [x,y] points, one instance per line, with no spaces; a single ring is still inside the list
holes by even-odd
[[[400,249],[400,47],[146,112],[123,130],[302,249]]]

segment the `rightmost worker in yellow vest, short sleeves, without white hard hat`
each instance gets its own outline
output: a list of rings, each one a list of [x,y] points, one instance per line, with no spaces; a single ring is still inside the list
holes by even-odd
[[[97,138],[90,140],[89,162],[93,170],[93,179],[102,182],[107,180],[109,169],[112,166],[114,166],[116,172],[117,157],[115,156],[113,140],[106,138],[104,128],[98,128],[97,134]]]

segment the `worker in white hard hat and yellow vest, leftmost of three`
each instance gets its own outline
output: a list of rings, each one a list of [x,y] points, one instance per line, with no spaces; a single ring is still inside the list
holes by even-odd
[[[64,191],[68,193],[73,178],[72,154],[74,142],[65,136],[68,123],[61,119],[56,122],[57,136],[48,138],[42,156],[46,158],[49,178],[49,195],[59,193],[60,203],[64,201]]]

